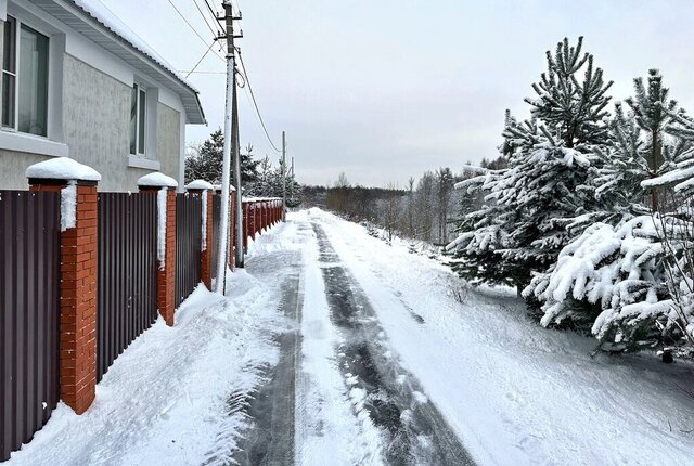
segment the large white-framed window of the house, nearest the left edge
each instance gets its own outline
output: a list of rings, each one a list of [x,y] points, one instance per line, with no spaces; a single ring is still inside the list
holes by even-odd
[[[49,39],[8,16],[2,57],[2,126],[48,134]]]

